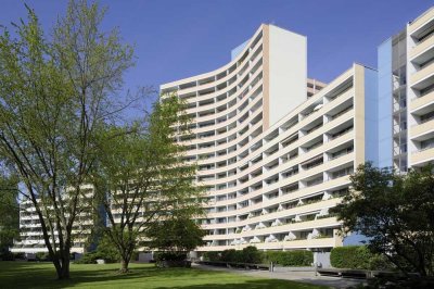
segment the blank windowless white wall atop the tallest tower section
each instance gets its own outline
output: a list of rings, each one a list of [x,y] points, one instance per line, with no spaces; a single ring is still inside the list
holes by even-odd
[[[272,126],[307,99],[307,40],[270,25],[269,41],[269,125]]]

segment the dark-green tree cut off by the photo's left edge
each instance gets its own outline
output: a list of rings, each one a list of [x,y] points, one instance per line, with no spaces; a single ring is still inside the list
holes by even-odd
[[[20,206],[16,178],[0,172],[0,255],[20,237]]]

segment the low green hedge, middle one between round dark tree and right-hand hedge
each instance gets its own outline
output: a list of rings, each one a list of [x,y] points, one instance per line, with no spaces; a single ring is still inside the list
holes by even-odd
[[[314,253],[307,250],[267,251],[264,252],[264,262],[281,266],[310,266],[314,263]]]

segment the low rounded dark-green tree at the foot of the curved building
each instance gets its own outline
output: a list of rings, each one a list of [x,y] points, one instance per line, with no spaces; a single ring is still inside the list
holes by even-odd
[[[155,222],[146,229],[149,248],[171,252],[188,252],[203,246],[205,235],[201,226],[188,216]]]

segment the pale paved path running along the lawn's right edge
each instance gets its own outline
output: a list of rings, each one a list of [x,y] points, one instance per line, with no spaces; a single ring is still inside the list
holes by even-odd
[[[202,269],[232,272],[252,277],[283,279],[283,280],[308,282],[314,285],[322,285],[322,286],[329,286],[331,288],[348,288],[350,286],[357,286],[363,282],[363,280],[359,279],[315,276],[315,272],[244,271],[244,269],[232,269],[232,268],[215,267],[215,266],[199,265],[199,264],[193,264],[193,266],[195,268],[202,268]]]

